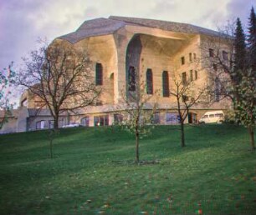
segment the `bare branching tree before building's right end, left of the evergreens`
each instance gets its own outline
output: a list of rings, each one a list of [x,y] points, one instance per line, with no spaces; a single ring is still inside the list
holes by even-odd
[[[211,101],[217,94],[218,101],[226,98],[234,101],[235,92],[232,87],[236,82],[233,77],[234,31],[235,22],[231,21],[225,27],[219,28],[217,36],[202,36],[200,62],[202,69],[207,71],[207,86],[212,96],[209,98]]]

